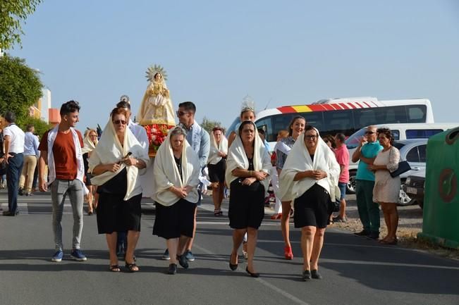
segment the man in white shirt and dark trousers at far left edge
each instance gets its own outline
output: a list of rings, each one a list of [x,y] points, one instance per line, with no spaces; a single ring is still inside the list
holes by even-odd
[[[18,215],[19,176],[24,164],[24,132],[16,125],[16,115],[11,111],[4,114],[4,162],[6,163],[6,185],[8,187],[8,211],[4,216]]]

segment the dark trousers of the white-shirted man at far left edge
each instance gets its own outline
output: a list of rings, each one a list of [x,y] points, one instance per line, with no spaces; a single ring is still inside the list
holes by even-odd
[[[18,188],[20,173],[23,172],[23,154],[10,153],[8,168],[6,168],[6,185],[8,187],[8,210],[16,213],[18,210]]]

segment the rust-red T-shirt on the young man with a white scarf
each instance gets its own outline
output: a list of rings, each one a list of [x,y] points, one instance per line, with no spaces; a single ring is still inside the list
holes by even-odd
[[[80,145],[83,147],[81,133],[78,130],[75,131],[77,132],[78,139],[80,140]],[[48,151],[48,133],[49,130],[44,133],[38,150]],[[54,168],[56,168],[56,179],[75,180],[78,173],[78,166],[72,132],[57,132],[53,145],[53,155]]]

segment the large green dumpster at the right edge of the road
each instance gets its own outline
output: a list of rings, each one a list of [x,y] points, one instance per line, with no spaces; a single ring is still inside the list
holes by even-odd
[[[417,237],[459,249],[459,127],[427,143],[422,232]]]

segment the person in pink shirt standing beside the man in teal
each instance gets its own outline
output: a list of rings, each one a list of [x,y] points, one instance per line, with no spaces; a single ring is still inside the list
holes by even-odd
[[[336,217],[332,218],[333,223],[345,223],[346,213],[346,201],[345,201],[345,194],[346,194],[346,187],[349,181],[349,151],[348,147],[345,144],[345,135],[343,133],[337,133],[334,138],[334,142],[336,144],[336,149],[334,150],[336,161],[340,167],[339,179],[338,179],[338,187],[341,192],[340,195],[340,206],[339,206],[339,214]]]

